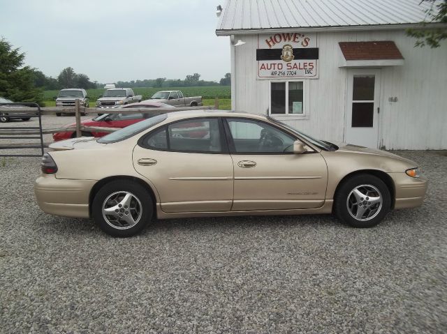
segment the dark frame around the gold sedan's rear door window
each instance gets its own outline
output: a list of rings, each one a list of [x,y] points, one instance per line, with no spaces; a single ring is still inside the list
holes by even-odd
[[[184,151],[184,150],[173,150],[170,149],[170,141],[169,141],[169,130],[168,127],[172,126],[175,123],[180,123],[180,122],[184,122],[184,121],[194,121],[194,120],[210,120],[210,119],[217,119],[217,122],[219,124],[219,137],[220,137],[220,141],[221,141],[221,151]],[[163,131],[166,130],[166,143],[168,144],[168,149],[158,149],[156,147],[152,147],[149,145],[145,145],[144,142],[147,139],[147,137],[154,135],[156,132],[159,131]],[[223,127],[223,121],[221,117],[193,117],[191,119],[180,119],[177,121],[173,121],[171,123],[167,123],[167,124],[163,124],[163,126],[159,126],[158,128],[155,128],[154,130],[151,130],[147,133],[145,133],[145,135],[142,135],[140,137],[140,139],[138,139],[137,142],[138,146],[142,147],[143,149],[148,149],[148,150],[152,150],[152,151],[164,151],[164,152],[177,152],[177,153],[200,153],[200,154],[229,154],[230,150],[228,148],[228,140],[226,138],[226,133],[225,133],[225,129]]]

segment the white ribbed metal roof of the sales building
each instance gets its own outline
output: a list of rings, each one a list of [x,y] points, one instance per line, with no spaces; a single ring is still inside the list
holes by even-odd
[[[414,24],[427,8],[420,0],[227,0],[217,30]]]

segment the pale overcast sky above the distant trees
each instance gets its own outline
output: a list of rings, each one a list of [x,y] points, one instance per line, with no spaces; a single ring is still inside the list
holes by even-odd
[[[200,78],[230,72],[228,37],[217,37],[224,0],[0,0],[0,37],[25,63],[57,77],[71,66],[92,81]]]

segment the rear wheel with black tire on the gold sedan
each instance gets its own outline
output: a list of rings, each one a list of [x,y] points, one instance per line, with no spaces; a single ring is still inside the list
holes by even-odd
[[[124,203],[123,199],[127,194],[130,194],[131,197],[129,208],[121,204]],[[105,214],[104,216],[103,207],[116,207],[116,209],[110,211],[111,215]],[[126,209],[129,209],[129,211],[126,211]],[[119,211],[116,213],[116,210]],[[124,180],[112,181],[103,185],[103,188],[96,193],[91,206],[91,214],[98,226],[105,233],[121,238],[133,236],[142,231],[152,219],[153,211],[149,192],[138,183]],[[123,218],[119,218],[118,215],[121,215]],[[126,222],[124,220],[126,217],[133,222],[137,220],[135,225],[130,225]],[[117,222],[113,222],[113,219],[116,219]],[[126,227],[126,224],[129,226]],[[119,225],[124,226],[119,227]]]

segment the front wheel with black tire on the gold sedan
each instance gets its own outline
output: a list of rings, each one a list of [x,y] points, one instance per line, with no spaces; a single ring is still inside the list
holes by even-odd
[[[335,215],[352,227],[378,225],[390,207],[390,190],[381,179],[371,174],[358,174],[347,179],[335,195]]]

